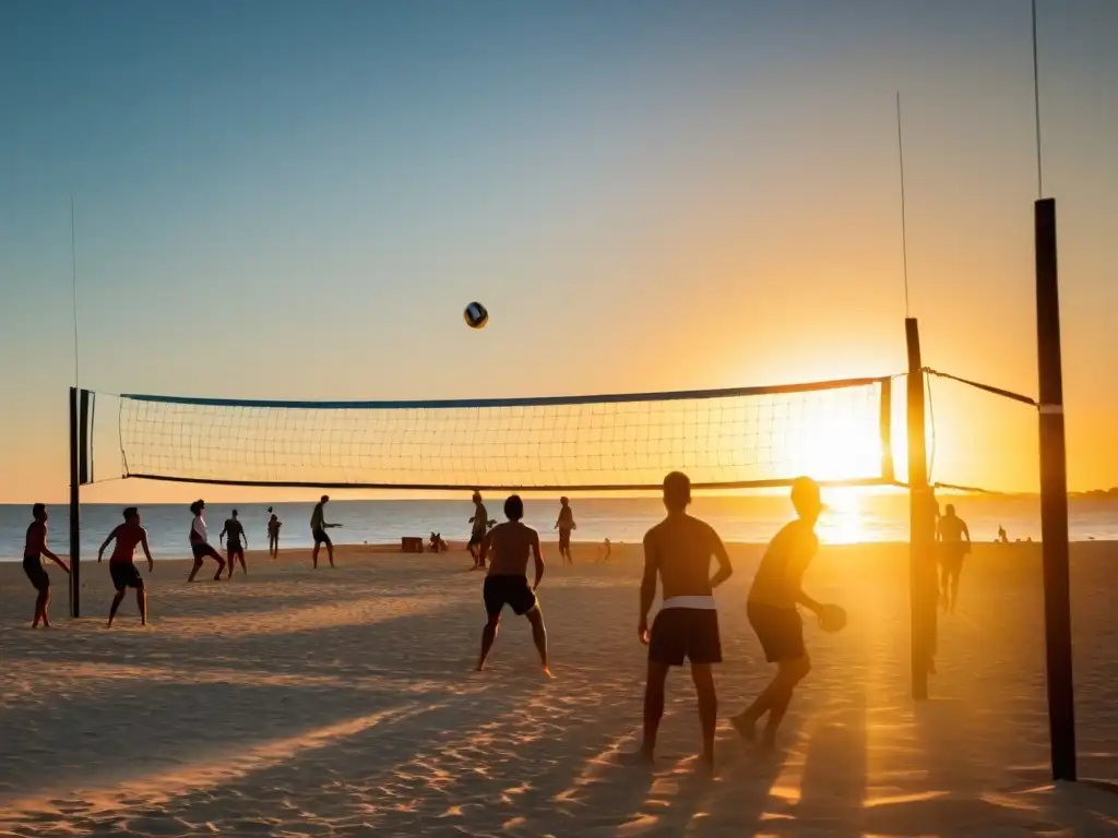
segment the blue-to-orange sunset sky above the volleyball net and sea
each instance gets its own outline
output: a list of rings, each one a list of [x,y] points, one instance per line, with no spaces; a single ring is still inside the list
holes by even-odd
[[[1089,489],[1118,484],[1118,3],[1039,7],[1069,483]],[[72,197],[98,391],[901,372],[898,91],[925,363],[1034,394],[1032,79],[1027,0],[2,3],[0,502],[66,496]],[[1036,488],[1034,412],[932,399],[934,478]]]

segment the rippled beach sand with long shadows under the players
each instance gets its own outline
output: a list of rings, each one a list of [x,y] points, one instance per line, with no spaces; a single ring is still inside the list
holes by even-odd
[[[553,545],[547,546],[555,555]],[[985,545],[941,621],[935,701],[908,698],[903,545],[824,549],[817,598],[840,635],[808,626],[814,670],[775,755],[722,722],[713,778],[695,771],[690,680],[673,675],[654,770],[636,744],[644,649],[639,555],[578,545],[540,590],[556,679],[506,615],[472,672],[481,575],[455,552],[249,553],[249,577],[148,575],[104,627],[107,568],[84,564],[87,617],[29,628],[34,592],[0,565],[0,834],[141,836],[1118,835],[1118,796],[1053,787],[1035,545]],[[745,619],[759,558],[731,549],[718,593],[720,715],[769,676]],[[158,560],[158,556],[157,556]],[[1073,550],[1080,772],[1118,779],[1118,545]]]

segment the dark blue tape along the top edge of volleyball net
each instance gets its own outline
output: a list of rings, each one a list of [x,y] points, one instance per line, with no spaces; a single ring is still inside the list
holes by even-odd
[[[719,390],[670,390],[652,393],[605,393],[599,396],[534,396],[512,399],[418,399],[410,401],[277,401],[273,399],[207,399],[188,396],[146,396],[122,393],[122,399],[163,404],[193,404],[220,408],[280,408],[291,410],[454,410],[463,408],[524,408],[560,404],[618,404],[647,401],[682,401],[694,399],[727,399],[746,396],[779,396],[781,393],[842,390],[870,387],[889,380],[889,375],[862,379],[815,381],[804,384],[775,387],[738,387]]]

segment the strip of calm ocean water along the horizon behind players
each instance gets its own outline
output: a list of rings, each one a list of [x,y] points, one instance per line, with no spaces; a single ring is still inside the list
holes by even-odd
[[[908,540],[908,499],[897,494],[869,494],[856,491],[825,495],[831,508],[817,527],[826,543],[898,542]],[[954,503],[970,527],[975,541],[993,541],[1004,526],[1011,541],[1040,540],[1040,501],[1035,497],[941,496],[940,504]],[[572,498],[578,528],[576,541],[637,542],[645,531],[663,516],[656,498]],[[486,498],[490,517],[503,520],[501,498]],[[1118,540],[1118,501],[1072,497],[1069,499],[1073,541]],[[249,549],[267,546],[265,524],[267,504],[238,504]],[[277,503],[283,522],[281,547],[311,546],[312,503]],[[69,514],[65,504],[50,508],[50,544],[56,552],[68,552]],[[121,506],[88,504],[82,506],[82,555],[94,559],[97,547],[121,521]],[[210,504],[206,521],[211,541],[217,542],[230,504]],[[556,499],[527,498],[525,523],[537,527],[544,541],[555,539],[552,526],[559,504]],[[186,504],[140,505],[143,524],[155,558],[187,558],[187,532],[191,515]],[[778,495],[701,496],[692,513],[704,518],[723,541],[757,543],[768,541],[792,515],[787,499]],[[440,532],[448,541],[470,536],[467,518],[473,514],[468,498],[463,501],[333,501],[326,520],[342,526],[331,530],[335,544],[396,543],[402,535],[426,539]],[[23,552],[23,536],[30,523],[30,505],[0,505],[0,561],[18,560]]]

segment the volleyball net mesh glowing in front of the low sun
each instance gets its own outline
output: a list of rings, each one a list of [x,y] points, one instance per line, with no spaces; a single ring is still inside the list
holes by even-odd
[[[121,397],[124,476],[400,488],[883,479],[883,382],[475,402]],[[885,411],[888,415],[888,410]]]

